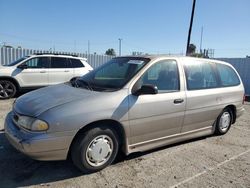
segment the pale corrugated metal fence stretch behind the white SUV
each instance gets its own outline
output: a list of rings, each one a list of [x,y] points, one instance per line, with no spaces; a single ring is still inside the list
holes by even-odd
[[[11,63],[12,61],[15,61],[23,56],[31,55],[34,53],[52,53],[52,52],[48,50],[33,50],[33,49],[1,47],[0,48],[0,64],[7,65]],[[85,54],[85,53],[69,53],[69,52],[59,52],[59,51],[53,51],[53,53],[70,54],[70,55],[77,55],[79,57],[85,57],[88,59],[88,63],[93,68],[96,68],[113,58],[113,56]]]

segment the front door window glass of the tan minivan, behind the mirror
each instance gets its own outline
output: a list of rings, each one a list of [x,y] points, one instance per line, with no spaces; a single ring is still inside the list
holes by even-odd
[[[140,85],[157,86],[159,93],[179,90],[179,73],[174,60],[163,60],[152,65],[140,78]]]

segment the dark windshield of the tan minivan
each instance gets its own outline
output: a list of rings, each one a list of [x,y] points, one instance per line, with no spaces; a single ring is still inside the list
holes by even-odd
[[[141,57],[114,58],[78,79],[75,85],[96,91],[118,90],[149,61]]]

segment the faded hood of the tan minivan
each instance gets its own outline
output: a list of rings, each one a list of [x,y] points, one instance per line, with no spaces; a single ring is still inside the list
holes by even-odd
[[[82,88],[74,88],[69,84],[59,84],[38,89],[19,97],[14,110],[22,115],[37,117],[43,112],[75,100],[98,94]]]

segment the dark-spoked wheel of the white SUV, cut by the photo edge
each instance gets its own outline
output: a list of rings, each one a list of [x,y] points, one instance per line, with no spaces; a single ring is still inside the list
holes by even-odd
[[[15,84],[9,80],[0,80],[0,100],[12,98],[16,92]]]

